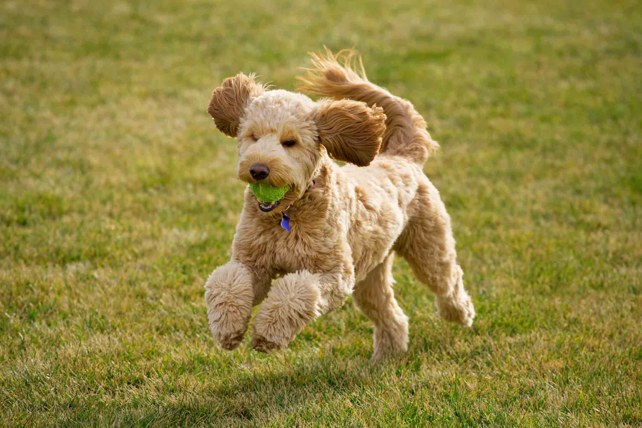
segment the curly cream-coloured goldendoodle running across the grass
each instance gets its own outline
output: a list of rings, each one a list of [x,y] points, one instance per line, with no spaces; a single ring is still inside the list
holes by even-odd
[[[404,352],[408,317],[392,291],[395,253],[435,294],[440,316],[470,326],[475,311],[450,217],[422,171],[438,147],[424,119],[370,83],[363,64],[356,72],[352,52],[312,57],[297,89],[325,98],[268,90],[237,74],[209,103],[218,129],[238,142],[238,178],[249,184],[232,259],[205,282],[214,338],[238,347],[252,307],[263,302],[251,345],[283,348],[352,295],[374,324],[372,361]]]

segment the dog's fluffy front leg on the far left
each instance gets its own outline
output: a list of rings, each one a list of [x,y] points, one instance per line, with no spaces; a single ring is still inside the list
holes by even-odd
[[[247,331],[252,306],[265,297],[270,278],[243,263],[230,261],[216,268],[205,282],[207,321],[221,347],[238,347]]]

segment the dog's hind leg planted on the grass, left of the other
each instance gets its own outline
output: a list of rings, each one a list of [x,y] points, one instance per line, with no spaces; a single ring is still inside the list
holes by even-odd
[[[372,358],[376,363],[386,355],[408,349],[408,317],[395,300],[392,284],[394,252],[359,282],[352,292],[353,302],[374,324]]]

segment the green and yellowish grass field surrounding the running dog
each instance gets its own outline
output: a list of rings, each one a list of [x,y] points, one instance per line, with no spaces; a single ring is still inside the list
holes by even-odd
[[[410,350],[348,300],[278,354],[214,344],[243,184],[205,112],[355,46],[442,148],[472,329],[403,260]],[[1,426],[641,426],[638,1],[0,3]]]

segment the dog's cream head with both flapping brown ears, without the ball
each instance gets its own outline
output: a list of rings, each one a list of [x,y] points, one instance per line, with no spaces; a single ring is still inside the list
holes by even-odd
[[[284,210],[299,199],[326,153],[369,165],[379,152],[386,119],[379,107],[350,99],[315,102],[286,90],[266,90],[245,74],[223,81],[207,112],[221,132],[238,141],[241,180],[290,185],[280,201],[259,203],[264,212]]]

